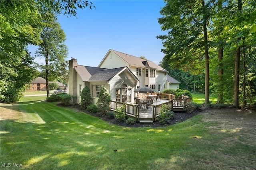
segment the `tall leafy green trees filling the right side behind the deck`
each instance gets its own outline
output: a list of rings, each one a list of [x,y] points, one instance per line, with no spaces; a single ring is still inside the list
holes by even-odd
[[[255,93],[252,93],[256,89],[252,85],[255,73],[251,73],[251,70],[256,65],[256,2],[165,2],[166,6],[160,11],[163,17],[158,22],[168,35],[157,36],[164,46],[162,63],[171,69],[190,71],[194,75],[205,74],[209,92],[218,95],[220,103],[232,103],[233,99],[233,105],[238,107],[239,101],[246,100],[241,96],[241,91],[246,89],[244,96],[255,97]],[[244,81],[241,81],[239,78],[243,73]],[[205,81],[205,87],[208,82]],[[230,95],[232,93],[234,95]]]

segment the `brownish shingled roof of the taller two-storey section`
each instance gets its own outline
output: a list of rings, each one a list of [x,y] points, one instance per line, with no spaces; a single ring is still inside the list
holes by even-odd
[[[154,63],[152,61],[145,60],[145,59],[142,59],[142,58],[139,58],[139,57],[135,57],[133,55],[122,53],[122,52],[119,52],[119,51],[115,51],[113,49],[109,49],[108,53],[110,51],[112,51],[113,53],[118,55],[121,59],[126,61],[126,63],[128,63],[129,65],[142,67],[142,68],[153,68],[153,69],[157,69],[158,71],[164,71],[164,72],[168,73],[168,71],[166,69],[160,67],[159,65],[157,65],[156,63]],[[108,53],[105,55],[104,59],[106,58]],[[104,59],[100,62],[100,65],[104,61]]]

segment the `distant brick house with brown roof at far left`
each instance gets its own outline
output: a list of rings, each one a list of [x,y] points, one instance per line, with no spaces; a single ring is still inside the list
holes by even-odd
[[[50,83],[57,83],[59,87],[64,88],[64,85],[58,81],[49,81],[49,84]],[[26,89],[26,91],[41,91],[41,90],[42,91],[46,90],[46,79],[42,77],[37,77],[37,79],[32,81],[29,84],[29,87]]]

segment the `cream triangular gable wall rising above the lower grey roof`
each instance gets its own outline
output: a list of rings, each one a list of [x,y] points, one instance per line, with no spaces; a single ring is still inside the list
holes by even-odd
[[[106,56],[104,61],[99,65],[101,68],[113,69],[119,67],[129,67],[128,63],[121,59],[118,55],[110,51],[110,53]]]

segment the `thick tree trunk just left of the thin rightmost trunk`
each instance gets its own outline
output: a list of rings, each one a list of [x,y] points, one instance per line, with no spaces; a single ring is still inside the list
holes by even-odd
[[[242,0],[238,0],[238,18],[240,16],[240,12],[242,11]],[[241,40],[241,37],[237,38],[237,42]],[[235,59],[235,73],[234,73],[234,107],[239,107],[239,69],[240,69],[240,51],[241,47],[239,46],[236,49],[236,59]]]

